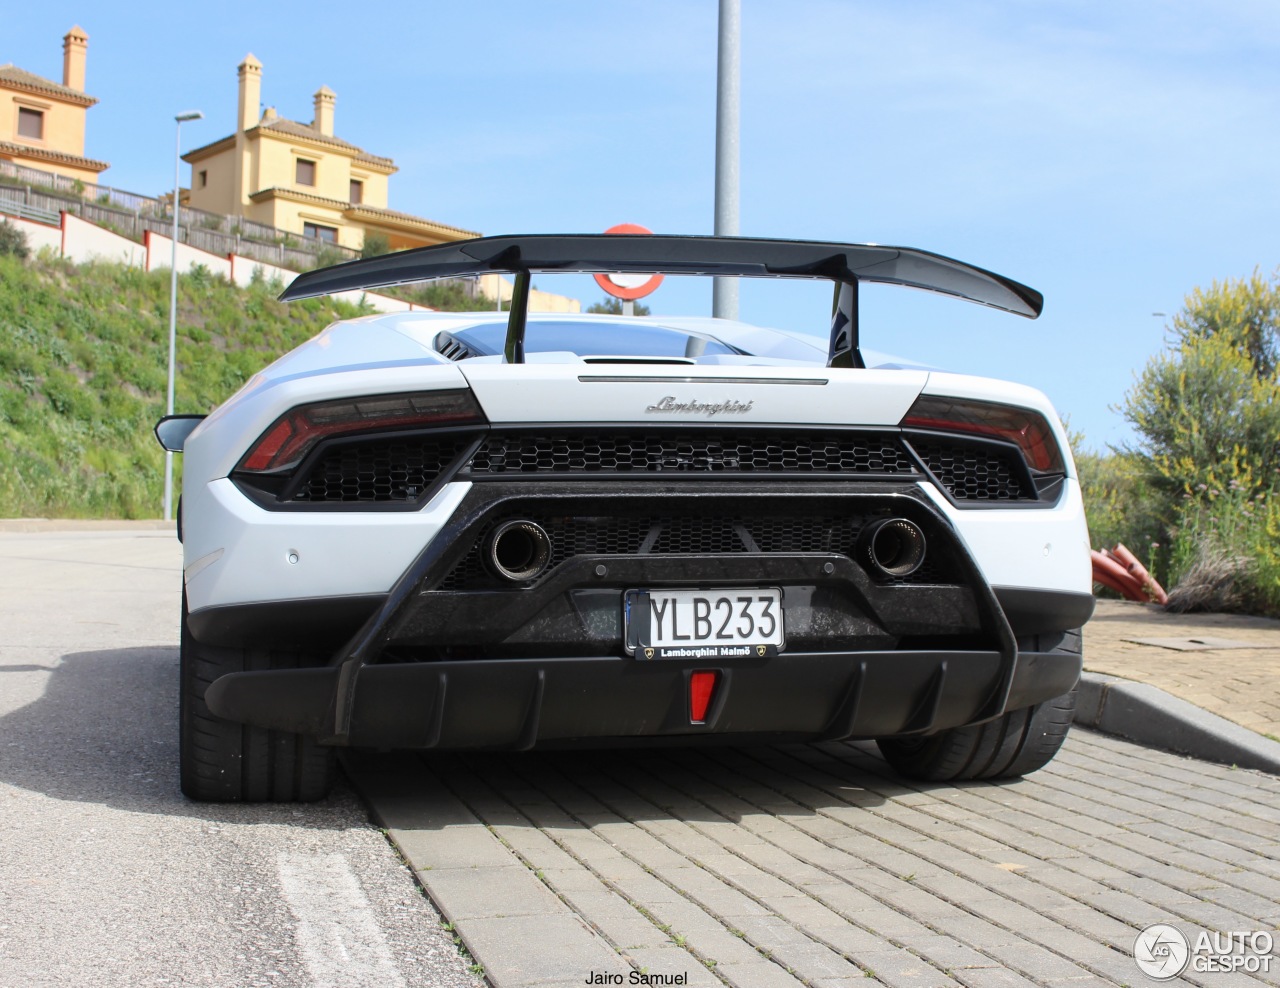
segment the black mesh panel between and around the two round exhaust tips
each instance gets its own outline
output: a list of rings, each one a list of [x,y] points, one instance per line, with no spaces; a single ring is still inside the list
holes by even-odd
[[[872,521],[849,514],[666,514],[548,517],[540,512],[504,514],[485,525],[467,554],[436,590],[490,590],[520,586],[495,578],[484,564],[489,532],[512,517],[540,525],[552,543],[548,572],[573,555],[724,555],[733,553],[841,553],[855,557],[858,536]],[[945,546],[931,545],[924,564],[891,584],[955,580]],[[534,581],[536,582],[536,581]]]

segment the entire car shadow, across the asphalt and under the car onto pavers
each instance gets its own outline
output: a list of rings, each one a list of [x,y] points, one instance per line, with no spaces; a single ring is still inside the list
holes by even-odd
[[[0,715],[0,783],[56,800],[219,823],[288,823],[319,829],[351,825],[360,799],[340,773],[333,795],[315,804],[202,804],[182,795],[175,648],[68,653],[52,669],[0,665],[0,690],[9,677],[41,672],[47,672],[44,692]],[[895,778],[870,742],[362,751],[343,763],[356,791],[367,788],[364,773],[420,776],[425,770],[476,815],[484,815],[484,806],[500,804],[507,822],[530,825],[536,824],[521,809],[530,801],[593,818],[617,813],[635,822],[739,823],[762,811],[813,817],[870,809],[937,787]]]

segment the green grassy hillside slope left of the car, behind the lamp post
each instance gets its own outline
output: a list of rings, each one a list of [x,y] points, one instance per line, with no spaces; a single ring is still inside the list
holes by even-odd
[[[335,319],[279,285],[179,278],[178,412],[207,412]],[[0,256],[0,518],[156,518],[164,452],[169,273]],[[175,458],[180,470],[182,457]]]

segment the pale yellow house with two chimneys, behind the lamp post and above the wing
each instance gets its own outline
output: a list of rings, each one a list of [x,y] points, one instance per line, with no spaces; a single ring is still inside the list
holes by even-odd
[[[477,237],[471,230],[387,209],[389,157],[371,155],[335,137],[335,95],[315,93],[311,123],[287,120],[268,108],[259,114],[262,63],[239,64],[236,133],[182,156],[191,164],[191,206],[244,216],[282,230],[360,248],[380,234],[392,250]]]

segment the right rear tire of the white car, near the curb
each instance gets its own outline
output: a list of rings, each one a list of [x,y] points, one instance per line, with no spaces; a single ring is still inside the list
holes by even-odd
[[[1047,648],[1047,642],[1028,645],[1033,650],[1079,654],[1079,630],[1053,637],[1057,641]],[[929,782],[1019,778],[1053,760],[1074,717],[1073,689],[984,724],[952,727],[924,737],[882,737],[876,744],[884,760],[908,778]]]

